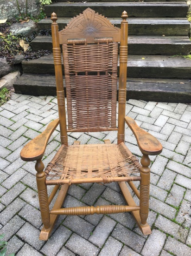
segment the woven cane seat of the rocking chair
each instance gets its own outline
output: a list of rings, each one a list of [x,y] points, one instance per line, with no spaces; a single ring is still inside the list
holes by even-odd
[[[139,172],[138,159],[125,144],[62,145],[48,164],[47,176],[65,179],[127,176]]]

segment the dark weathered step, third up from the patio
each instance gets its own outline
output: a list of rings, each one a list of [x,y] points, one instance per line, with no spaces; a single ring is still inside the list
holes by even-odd
[[[51,36],[37,36],[32,40],[32,49],[52,52]],[[188,36],[138,36],[128,37],[129,54],[165,54],[187,55],[191,52],[191,40]]]

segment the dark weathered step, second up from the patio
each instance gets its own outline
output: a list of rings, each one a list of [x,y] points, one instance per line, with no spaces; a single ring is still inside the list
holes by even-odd
[[[191,79],[191,61],[179,56],[128,55],[127,66],[128,77]],[[53,54],[23,61],[22,67],[25,73],[54,74]]]

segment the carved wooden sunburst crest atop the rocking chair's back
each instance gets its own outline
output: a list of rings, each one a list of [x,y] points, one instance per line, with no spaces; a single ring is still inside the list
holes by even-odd
[[[120,41],[120,28],[94,10],[87,8],[83,13],[71,19],[70,23],[59,32],[60,43],[67,43],[69,38],[86,38],[88,43],[95,37],[113,37]]]

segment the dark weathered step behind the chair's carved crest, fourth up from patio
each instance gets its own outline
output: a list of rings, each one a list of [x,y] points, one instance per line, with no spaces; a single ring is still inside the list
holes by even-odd
[[[186,17],[186,16],[185,16]],[[108,18],[115,27],[121,27],[121,18]],[[71,18],[57,20],[59,30],[65,28]],[[38,22],[38,30],[50,29],[51,19]],[[188,35],[190,22],[186,18],[128,18],[129,35]]]

